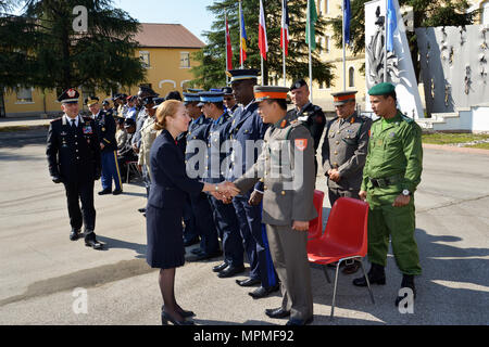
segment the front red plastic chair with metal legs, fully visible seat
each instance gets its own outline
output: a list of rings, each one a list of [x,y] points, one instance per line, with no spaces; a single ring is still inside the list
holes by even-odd
[[[368,204],[356,198],[340,197],[333,205],[324,234],[319,239],[308,241],[309,261],[323,265],[329,281],[327,265],[338,261],[336,266],[335,290],[333,292],[331,319],[335,313],[336,290],[340,264],[358,259],[366,278],[372,301],[375,304],[368,277],[363,267],[363,257],[367,253]]]

